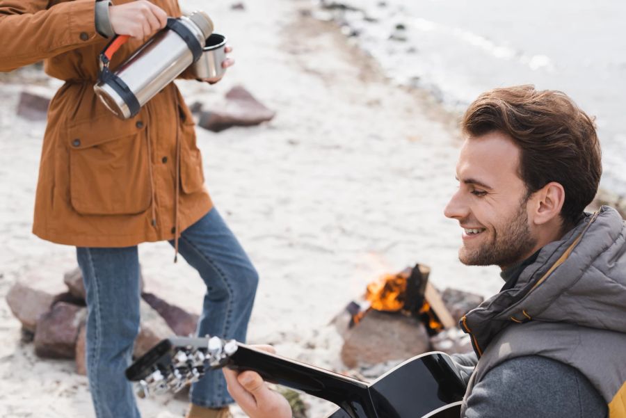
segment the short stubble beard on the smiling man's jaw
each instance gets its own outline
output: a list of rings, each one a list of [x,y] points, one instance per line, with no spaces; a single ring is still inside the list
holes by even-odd
[[[527,199],[520,204],[517,213],[511,216],[501,230],[493,231],[494,236],[488,243],[474,250],[465,246],[458,250],[458,259],[467,266],[511,266],[522,261],[537,239],[532,236],[526,213]],[[486,231],[485,231],[486,232]]]

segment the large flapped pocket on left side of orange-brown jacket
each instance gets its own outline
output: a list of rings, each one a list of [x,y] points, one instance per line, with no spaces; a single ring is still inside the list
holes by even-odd
[[[83,215],[141,214],[152,200],[144,124],[107,121],[68,129],[72,207]]]

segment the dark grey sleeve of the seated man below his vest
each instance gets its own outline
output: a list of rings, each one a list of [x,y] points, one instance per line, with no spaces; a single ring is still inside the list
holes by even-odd
[[[605,418],[608,411],[577,369],[537,355],[494,367],[465,401],[463,418]]]

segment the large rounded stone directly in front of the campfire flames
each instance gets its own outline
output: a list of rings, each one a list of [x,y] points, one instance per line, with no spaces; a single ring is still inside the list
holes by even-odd
[[[414,317],[375,310],[347,330],[344,339],[342,361],[351,368],[406,360],[431,347],[424,324]]]

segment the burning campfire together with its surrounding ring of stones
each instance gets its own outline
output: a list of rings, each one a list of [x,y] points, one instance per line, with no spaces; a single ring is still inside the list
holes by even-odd
[[[391,364],[428,351],[472,351],[458,321],[483,298],[450,288],[440,293],[428,281],[430,273],[417,264],[383,275],[335,316],[332,323],[344,339],[341,358],[346,367],[378,377]]]

